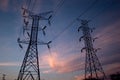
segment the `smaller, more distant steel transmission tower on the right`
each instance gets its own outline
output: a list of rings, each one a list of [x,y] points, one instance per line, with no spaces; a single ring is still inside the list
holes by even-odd
[[[93,42],[96,38],[91,37],[91,32],[93,32],[94,28],[88,27],[87,20],[81,20],[81,25],[78,28],[78,32],[80,29],[82,30],[83,36],[80,37],[79,41],[83,38],[85,47],[81,49],[81,52],[85,49],[86,58],[85,58],[85,80],[105,80],[106,76],[101,66],[101,63],[96,55],[98,49],[94,49]]]

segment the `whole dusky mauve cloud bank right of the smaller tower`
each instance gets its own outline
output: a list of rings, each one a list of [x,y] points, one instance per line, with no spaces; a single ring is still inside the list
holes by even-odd
[[[102,28],[96,36],[99,39],[96,41],[96,46],[102,48],[100,58],[103,63],[111,62],[115,59],[120,59],[119,49],[120,49],[120,23],[119,21]],[[107,57],[107,58],[106,58]]]

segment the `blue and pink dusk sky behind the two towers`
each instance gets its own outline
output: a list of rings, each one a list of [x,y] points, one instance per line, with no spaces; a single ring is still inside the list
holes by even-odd
[[[32,0],[33,1],[33,0]],[[79,19],[90,20],[89,27],[96,28],[92,37],[98,37],[95,48],[101,48],[96,54],[102,67],[109,75],[120,72],[120,1],[97,0],[95,5],[86,11],[95,0],[36,0],[33,12],[56,10],[51,26],[40,20],[39,26],[47,25],[46,36],[39,32],[38,40],[52,40],[51,54],[47,46],[39,45],[39,64],[41,79],[45,80],[82,80],[84,78],[85,51],[84,41],[79,42],[82,31]],[[0,80],[6,74],[6,80],[18,77],[20,66],[27,45],[21,49],[17,38],[22,36],[23,17],[21,5],[25,0],[0,0]],[[84,14],[83,14],[84,13]],[[75,22],[71,25],[71,22]],[[66,27],[70,26],[66,29]],[[52,56],[51,56],[52,55]]]

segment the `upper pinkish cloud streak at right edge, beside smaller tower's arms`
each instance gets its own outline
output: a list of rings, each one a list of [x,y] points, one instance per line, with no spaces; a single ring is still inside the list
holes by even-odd
[[[99,39],[97,40],[97,46],[107,48],[113,43],[120,42],[120,23],[119,21],[100,29],[100,31],[96,34]]]

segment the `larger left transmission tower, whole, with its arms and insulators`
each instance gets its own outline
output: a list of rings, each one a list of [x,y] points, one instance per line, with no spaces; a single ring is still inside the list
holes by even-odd
[[[26,24],[24,29],[31,30],[31,34],[28,33],[30,39],[26,41],[26,40],[20,40],[20,38],[18,38],[19,46],[23,48],[21,43],[25,43],[28,44],[28,48],[25,53],[17,80],[41,80],[37,45],[47,45],[49,48],[49,44],[51,43],[51,41],[44,43],[44,42],[39,42],[37,40],[38,31],[43,31],[43,33],[45,34],[44,29],[46,28],[46,26],[43,28],[39,27],[39,21],[40,20],[49,21],[51,16],[47,18],[46,16],[51,14],[52,11],[40,13],[40,14],[34,14],[33,12],[28,11],[27,9],[23,8],[23,10],[24,10],[24,14],[28,13],[28,15],[23,15],[23,17],[32,19],[32,25],[30,28],[30,26],[28,26],[29,22],[24,20],[24,23]]]

